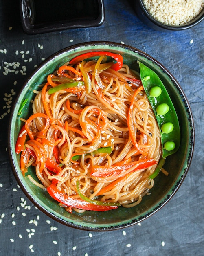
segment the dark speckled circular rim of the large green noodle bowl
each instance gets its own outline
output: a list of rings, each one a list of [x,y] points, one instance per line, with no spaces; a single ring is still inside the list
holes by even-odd
[[[134,220],[132,220],[132,222],[124,222],[123,224],[120,225],[113,225],[113,226],[102,226],[100,225],[100,227],[91,227],[92,224],[89,225],[75,225],[72,222],[67,222],[66,220],[63,220],[57,216],[55,216],[53,213],[50,213],[48,210],[46,210],[39,202],[37,202],[37,200],[35,200],[35,198],[27,191],[26,186],[24,186],[24,184],[22,183],[22,181],[20,180],[20,177],[18,175],[18,171],[15,169],[15,165],[13,163],[13,155],[15,155],[15,152],[13,152],[11,150],[12,145],[11,145],[11,126],[13,123],[13,120],[16,118],[13,116],[13,112],[15,109],[15,105],[18,102],[18,98],[21,95],[21,91],[22,89],[26,86],[26,84],[29,82],[29,80],[31,79],[31,77],[38,71],[40,70],[44,65],[46,65],[47,62],[51,61],[53,58],[55,58],[58,55],[61,55],[67,51],[71,51],[71,50],[75,50],[75,49],[79,49],[80,47],[89,47],[90,45],[97,45],[97,46],[107,46],[107,47],[119,47],[119,48],[124,48],[127,49],[130,52],[134,52],[137,53],[140,56],[145,56],[145,58],[149,59],[150,61],[152,61],[155,65],[157,65],[160,70],[162,70],[162,72],[165,72],[167,74],[167,76],[169,76],[169,78],[171,79],[171,81],[173,81],[174,86],[176,85],[176,88],[180,91],[183,100],[185,101],[185,105],[186,108],[188,110],[188,114],[189,114],[189,122],[191,123],[191,148],[189,150],[189,154],[188,154],[188,159],[186,167],[182,168],[184,169],[184,171],[182,171],[182,175],[179,175],[177,178],[177,183],[172,187],[171,189],[171,193],[167,193],[166,198],[162,198],[162,200],[159,201],[159,204],[157,204],[157,206],[152,207],[153,210],[152,211],[145,211],[145,213],[147,214],[143,214],[143,216],[141,216],[140,218],[134,218]],[[88,49],[88,48],[87,48]],[[114,50],[114,49],[113,49]],[[193,157],[193,150],[194,150],[194,140],[195,140],[195,128],[194,128],[194,122],[193,122],[193,115],[191,112],[191,108],[189,105],[188,100],[186,99],[186,96],[182,90],[182,88],[180,87],[179,83],[176,81],[176,79],[174,78],[174,76],[169,72],[169,70],[167,70],[160,62],[158,62],[156,59],[154,59],[153,57],[151,57],[149,54],[141,51],[140,49],[137,49],[135,47],[129,46],[129,45],[125,45],[125,44],[121,44],[121,43],[114,43],[114,42],[110,42],[110,41],[90,41],[90,42],[85,42],[85,43],[79,43],[79,44],[75,44],[75,45],[71,45],[69,47],[65,47],[64,49],[61,49],[57,52],[55,52],[54,54],[50,55],[48,58],[46,58],[44,61],[42,61],[34,70],[33,72],[31,72],[31,74],[29,75],[29,77],[26,79],[26,81],[23,83],[22,88],[20,89],[15,102],[13,104],[13,107],[11,109],[11,113],[10,113],[10,117],[9,117],[9,132],[8,132],[8,153],[9,153],[9,159],[11,162],[11,167],[12,167],[12,171],[13,174],[20,186],[20,188],[22,189],[22,191],[24,192],[24,194],[27,196],[27,198],[29,198],[29,200],[38,208],[40,209],[43,213],[45,213],[47,216],[49,216],[50,218],[52,218],[53,220],[60,222],[61,224],[64,224],[66,226],[69,227],[73,227],[76,229],[82,229],[82,230],[86,230],[86,231],[110,231],[110,230],[116,230],[116,229],[121,229],[124,227],[129,227],[132,225],[137,224],[138,222],[141,222],[142,220],[145,220],[147,218],[149,218],[152,214],[156,213],[160,208],[162,208],[167,202],[169,202],[169,200],[173,197],[173,195],[175,194],[175,192],[179,189],[179,187],[181,186],[184,178],[186,177],[187,172],[189,171],[189,167],[191,164],[191,160]],[[174,184],[174,183],[173,183]]]

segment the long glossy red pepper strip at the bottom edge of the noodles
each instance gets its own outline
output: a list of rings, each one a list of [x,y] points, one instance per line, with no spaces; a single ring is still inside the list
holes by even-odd
[[[49,195],[55,199],[57,202],[65,204],[69,207],[75,207],[77,209],[89,210],[89,211],[109,211],[112,209],[118,208],[117,205],[114,206],[106,206],[106,205],[97,205],[91,204],[90,202],[86,202],[81,198],[74,198],[68,196],[61,192],[59,189],[56,188],[55,185],[50,185],[47,188]]]

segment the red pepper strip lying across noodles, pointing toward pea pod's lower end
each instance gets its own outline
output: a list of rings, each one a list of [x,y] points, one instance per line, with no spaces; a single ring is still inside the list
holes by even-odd
[[[127,171],[129,168],[132,168],[135,166],[135,168],[132,170],[137,171],[141,169],[146,169],[154,164],[157,164],[157,162],[153,158],[138,160],[134,162],[130,162],[127,164],[120,165],[112,165],[112,166],[94,166],[91,171],[91,176],[94,177],[107,177],[110,175],[116,176],[120,174],[122,171]]]

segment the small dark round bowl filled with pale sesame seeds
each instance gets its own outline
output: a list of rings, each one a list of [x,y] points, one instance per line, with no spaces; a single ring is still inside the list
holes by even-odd
[[[138,17],[157,30],[183,30],[204,19],[204,0],[137,0]]]

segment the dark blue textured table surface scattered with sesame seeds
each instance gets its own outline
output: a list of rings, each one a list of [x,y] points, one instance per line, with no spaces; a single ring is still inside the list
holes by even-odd
[[[133,1],[132,1],[133,2]],[[185,31],[155,31],[131,1],[105,0],[100,27],[26,35],[18,1],[0,5],[0,255],[204,255],[204,22]],[[9,112],[35,65],[70,45],[107,40],[136,47],[175,76],[190,103],[195,150],[175,196],[139,225],[109,232],[72,229],[55,222],[26,198],[7,154]]]

